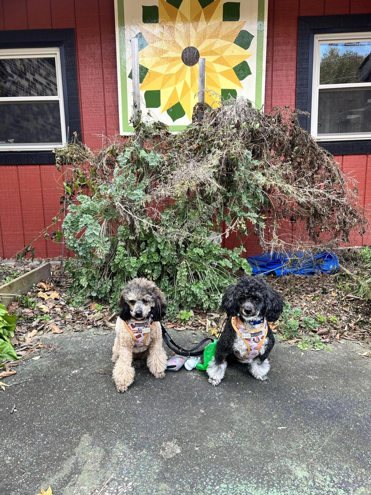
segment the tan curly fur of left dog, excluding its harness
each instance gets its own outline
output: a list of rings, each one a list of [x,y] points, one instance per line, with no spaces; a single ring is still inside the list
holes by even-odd
[[[160,289],[144,278],[133,279],[119,297],[120,313],[116,321],[116,338],[112,349],[115,364],[112,377],[118,392],[125,392],[134,381],[133,358],[147,358],[149,371],[156,378],[165,377],[167,356],[162,347],[160,321],[165,316],[166,299]],[[134,347],[131,334],[124,325],[130,319],[148,319],[153,326],[144,347]]]

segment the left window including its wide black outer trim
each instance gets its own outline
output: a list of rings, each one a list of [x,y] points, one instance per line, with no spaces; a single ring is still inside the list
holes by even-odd
[[[0,164],[54,163],[81,139],[73,29],[0,32]]]

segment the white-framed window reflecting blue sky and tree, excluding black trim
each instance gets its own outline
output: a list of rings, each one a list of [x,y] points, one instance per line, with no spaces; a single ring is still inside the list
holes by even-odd
[[[314,36],[311,134],[371,138],[371,32]]]

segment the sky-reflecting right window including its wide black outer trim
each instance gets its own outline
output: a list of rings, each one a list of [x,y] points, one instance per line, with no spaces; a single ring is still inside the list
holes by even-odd
[[[333,154],[371,152],[370,26],[370,14],[299,18],[299,121]]]

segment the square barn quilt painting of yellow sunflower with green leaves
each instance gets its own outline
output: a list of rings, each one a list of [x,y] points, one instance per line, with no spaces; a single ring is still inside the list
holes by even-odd
[[[172,131],[191,122],[198,61],[205,101],[243,96],[264,104],[268,0],[116,0],[120,133],[132,131],[131,38],[139,41],[141,111]]]

